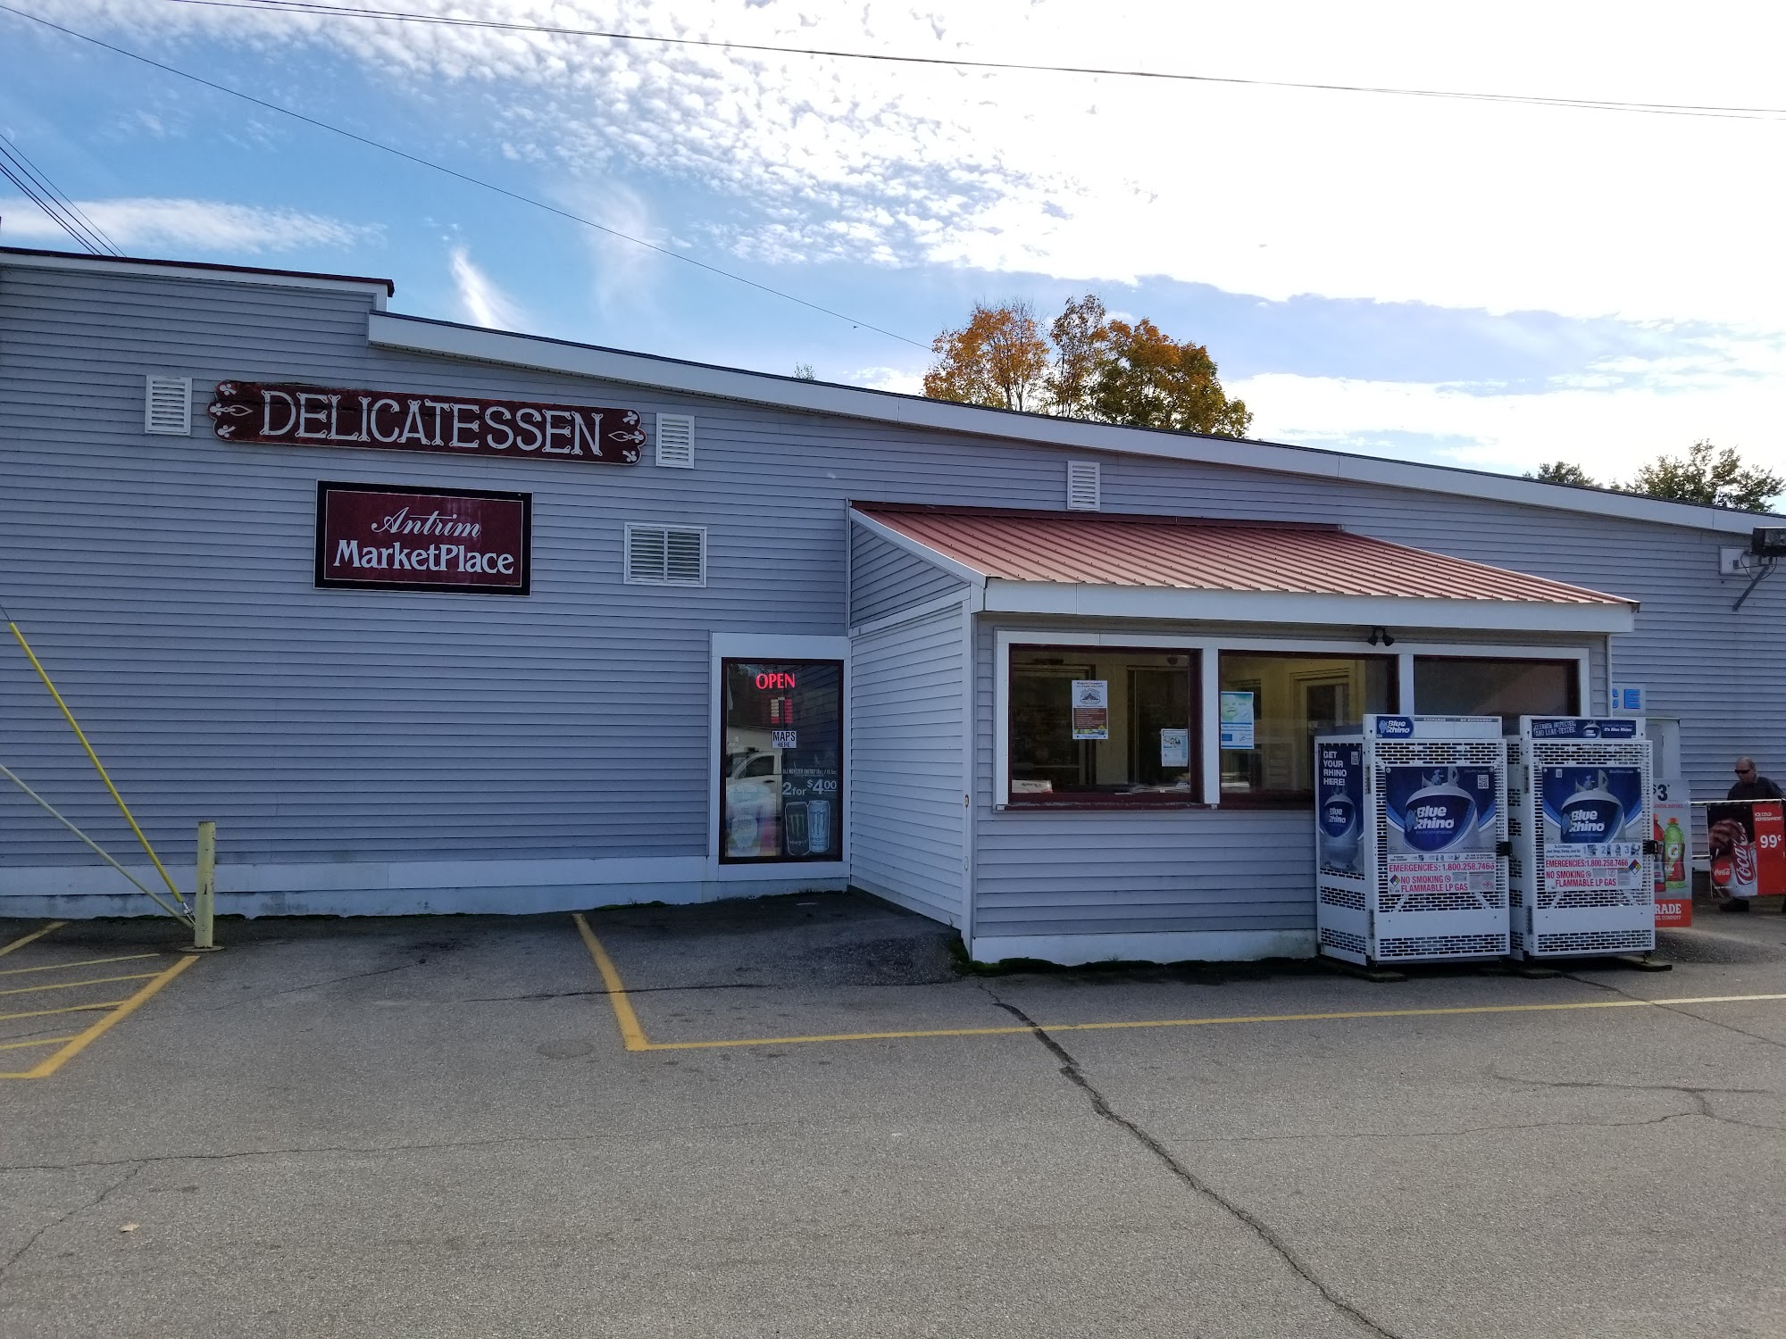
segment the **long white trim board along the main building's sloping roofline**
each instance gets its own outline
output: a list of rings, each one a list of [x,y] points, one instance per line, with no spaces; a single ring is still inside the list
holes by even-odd
[[[1131,428],[1050,418],[1047,414],[1020,414],[1006,409],[957,405],[913,395],[895,395],[891,391],[870,391],[859,386],[807,382],[761,371],[714,368],[700,362],[652,357],[648,353],[573,345],[539,336],[482,330],[418,316],[375,314],[368,327],[368,339],[377,346],[400,348],[411,353],[436,353],[477,362],[557,371],[572,377],[593,377],[657,391],[680,391],[772,409],[838,414],[843,418],[900,423],[943,432],[966,432],[981,437],[1066,446],[1072,450],[1148,455],[1357,484],[1382,484],[1386,487],[1507,502],[1545,511],[1615,516],[1654,525],[1681,525],[1691,530],[1747,536],[1754,528],[1757,516],[1763,520],[1781,520],[1763,512],[1693,507],[1681,502],[1657,502],[1623,493],[1568,487],[1566,484],[1540,484],[1534,478],[1515,478],[1513,475],[1493,475],[1452,466],[1350,455],[1314,446],[1198,437],[1188,432]]]

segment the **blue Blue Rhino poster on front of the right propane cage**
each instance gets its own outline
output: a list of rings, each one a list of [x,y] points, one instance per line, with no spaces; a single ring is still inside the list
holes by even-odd
[[[1545,768],[1545,884],[1552,893],[1643,887],[1643,769]]]

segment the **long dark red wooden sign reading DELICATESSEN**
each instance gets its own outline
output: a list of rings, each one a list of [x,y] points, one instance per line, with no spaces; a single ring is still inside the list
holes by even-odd
[[[584,464],[638,464],[636,409],[463,400],[395,391],[220,382],[211,403],[225,441],[363,446],[375,452],[538,455]]]

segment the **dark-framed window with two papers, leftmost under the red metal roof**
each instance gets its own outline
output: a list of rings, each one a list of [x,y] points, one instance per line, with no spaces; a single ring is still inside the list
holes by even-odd
[[[1011,803],[1198,798],[1195,652],[1011,648]]]

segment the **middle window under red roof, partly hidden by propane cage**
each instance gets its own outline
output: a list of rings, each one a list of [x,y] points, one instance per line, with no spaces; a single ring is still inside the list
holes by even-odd
[[[1222,798],[1309,800],[1314,736],[1395,711],[1388,655],[1222,652]]]

